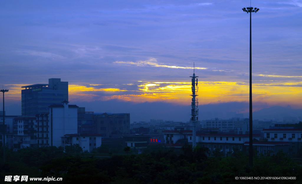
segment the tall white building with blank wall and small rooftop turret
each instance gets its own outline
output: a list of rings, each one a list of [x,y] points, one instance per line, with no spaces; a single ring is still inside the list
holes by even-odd
[[[62,105],[50,105],[50,146],[61,146],[61,137],[78,132],[78,106],[68,105],[66,100]]]

